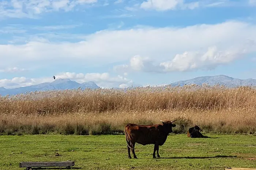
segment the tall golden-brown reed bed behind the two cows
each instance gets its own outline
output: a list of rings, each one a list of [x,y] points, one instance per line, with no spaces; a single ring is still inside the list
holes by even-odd
[[[177,119],[174,133],[256,134],[256,89],[225,86],[76,89],[0,97],[0,134],[123,134],[127,123]]]

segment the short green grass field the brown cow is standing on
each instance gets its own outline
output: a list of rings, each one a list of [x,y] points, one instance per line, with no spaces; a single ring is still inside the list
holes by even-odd
[[[124,135],[25,135],[0,136],[0,169],[18,170],[22,161],[75,161],[87,169],[205,170],[225,167],[256,168],[256,137],[208,135],[192,139],[169,135],[153,159],[153,145],[135,145],[138,159],[128,159]],[[55,153],[60,156],[55,156]]]

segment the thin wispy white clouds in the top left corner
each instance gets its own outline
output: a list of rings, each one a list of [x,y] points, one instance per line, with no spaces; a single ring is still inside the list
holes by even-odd
[[[70,11],[78,5],[96,2],[97,0],[2,0],[0,17],[35,18],[43,12]]]

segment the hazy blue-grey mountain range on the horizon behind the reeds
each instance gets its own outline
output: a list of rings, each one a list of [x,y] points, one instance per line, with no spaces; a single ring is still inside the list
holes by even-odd
[[[217,76],[203,76],[196,77],[189,80],[182,80],[174,83],[170,83],[172,86],[184,86],[185,84],[197,84],[202,85],[203,83],[207,83],[210,86],[215,84],[225,85],[227,87],[236,87],[236,86],[256,86],[256,79],[235,79],[226,75],[217,75]],[[41,83],[33,86],[27,87],[19,87],[19,88],[4,88],[0,87],[0,95],[5,96],[16,95],[25,92],[31,91],[45,91],[45,90],[65,90],[65,89],[75,89],[75,88],[100,88],[94,82],[85,82],[85,83],[77,83],[70,79],[57,79],[51,83]],[[120,89],[120,88],[114,88]]]

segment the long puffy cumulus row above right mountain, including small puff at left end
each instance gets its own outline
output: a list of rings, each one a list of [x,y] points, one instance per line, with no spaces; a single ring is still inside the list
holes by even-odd
[[[256,52],[255,41],[245,41],[238,46],[230,47],[224,51],[218,50],[216,46],[209,47],[207,51],[185,51],[177,54],[172,60],[154,63],[148,58],[139,55],[133,56],[129,64],[114,66],[115,71],[143,71],[143,72],[172,72],[211,70],[218,65],[227,64],[242,58],[245,54]]]

